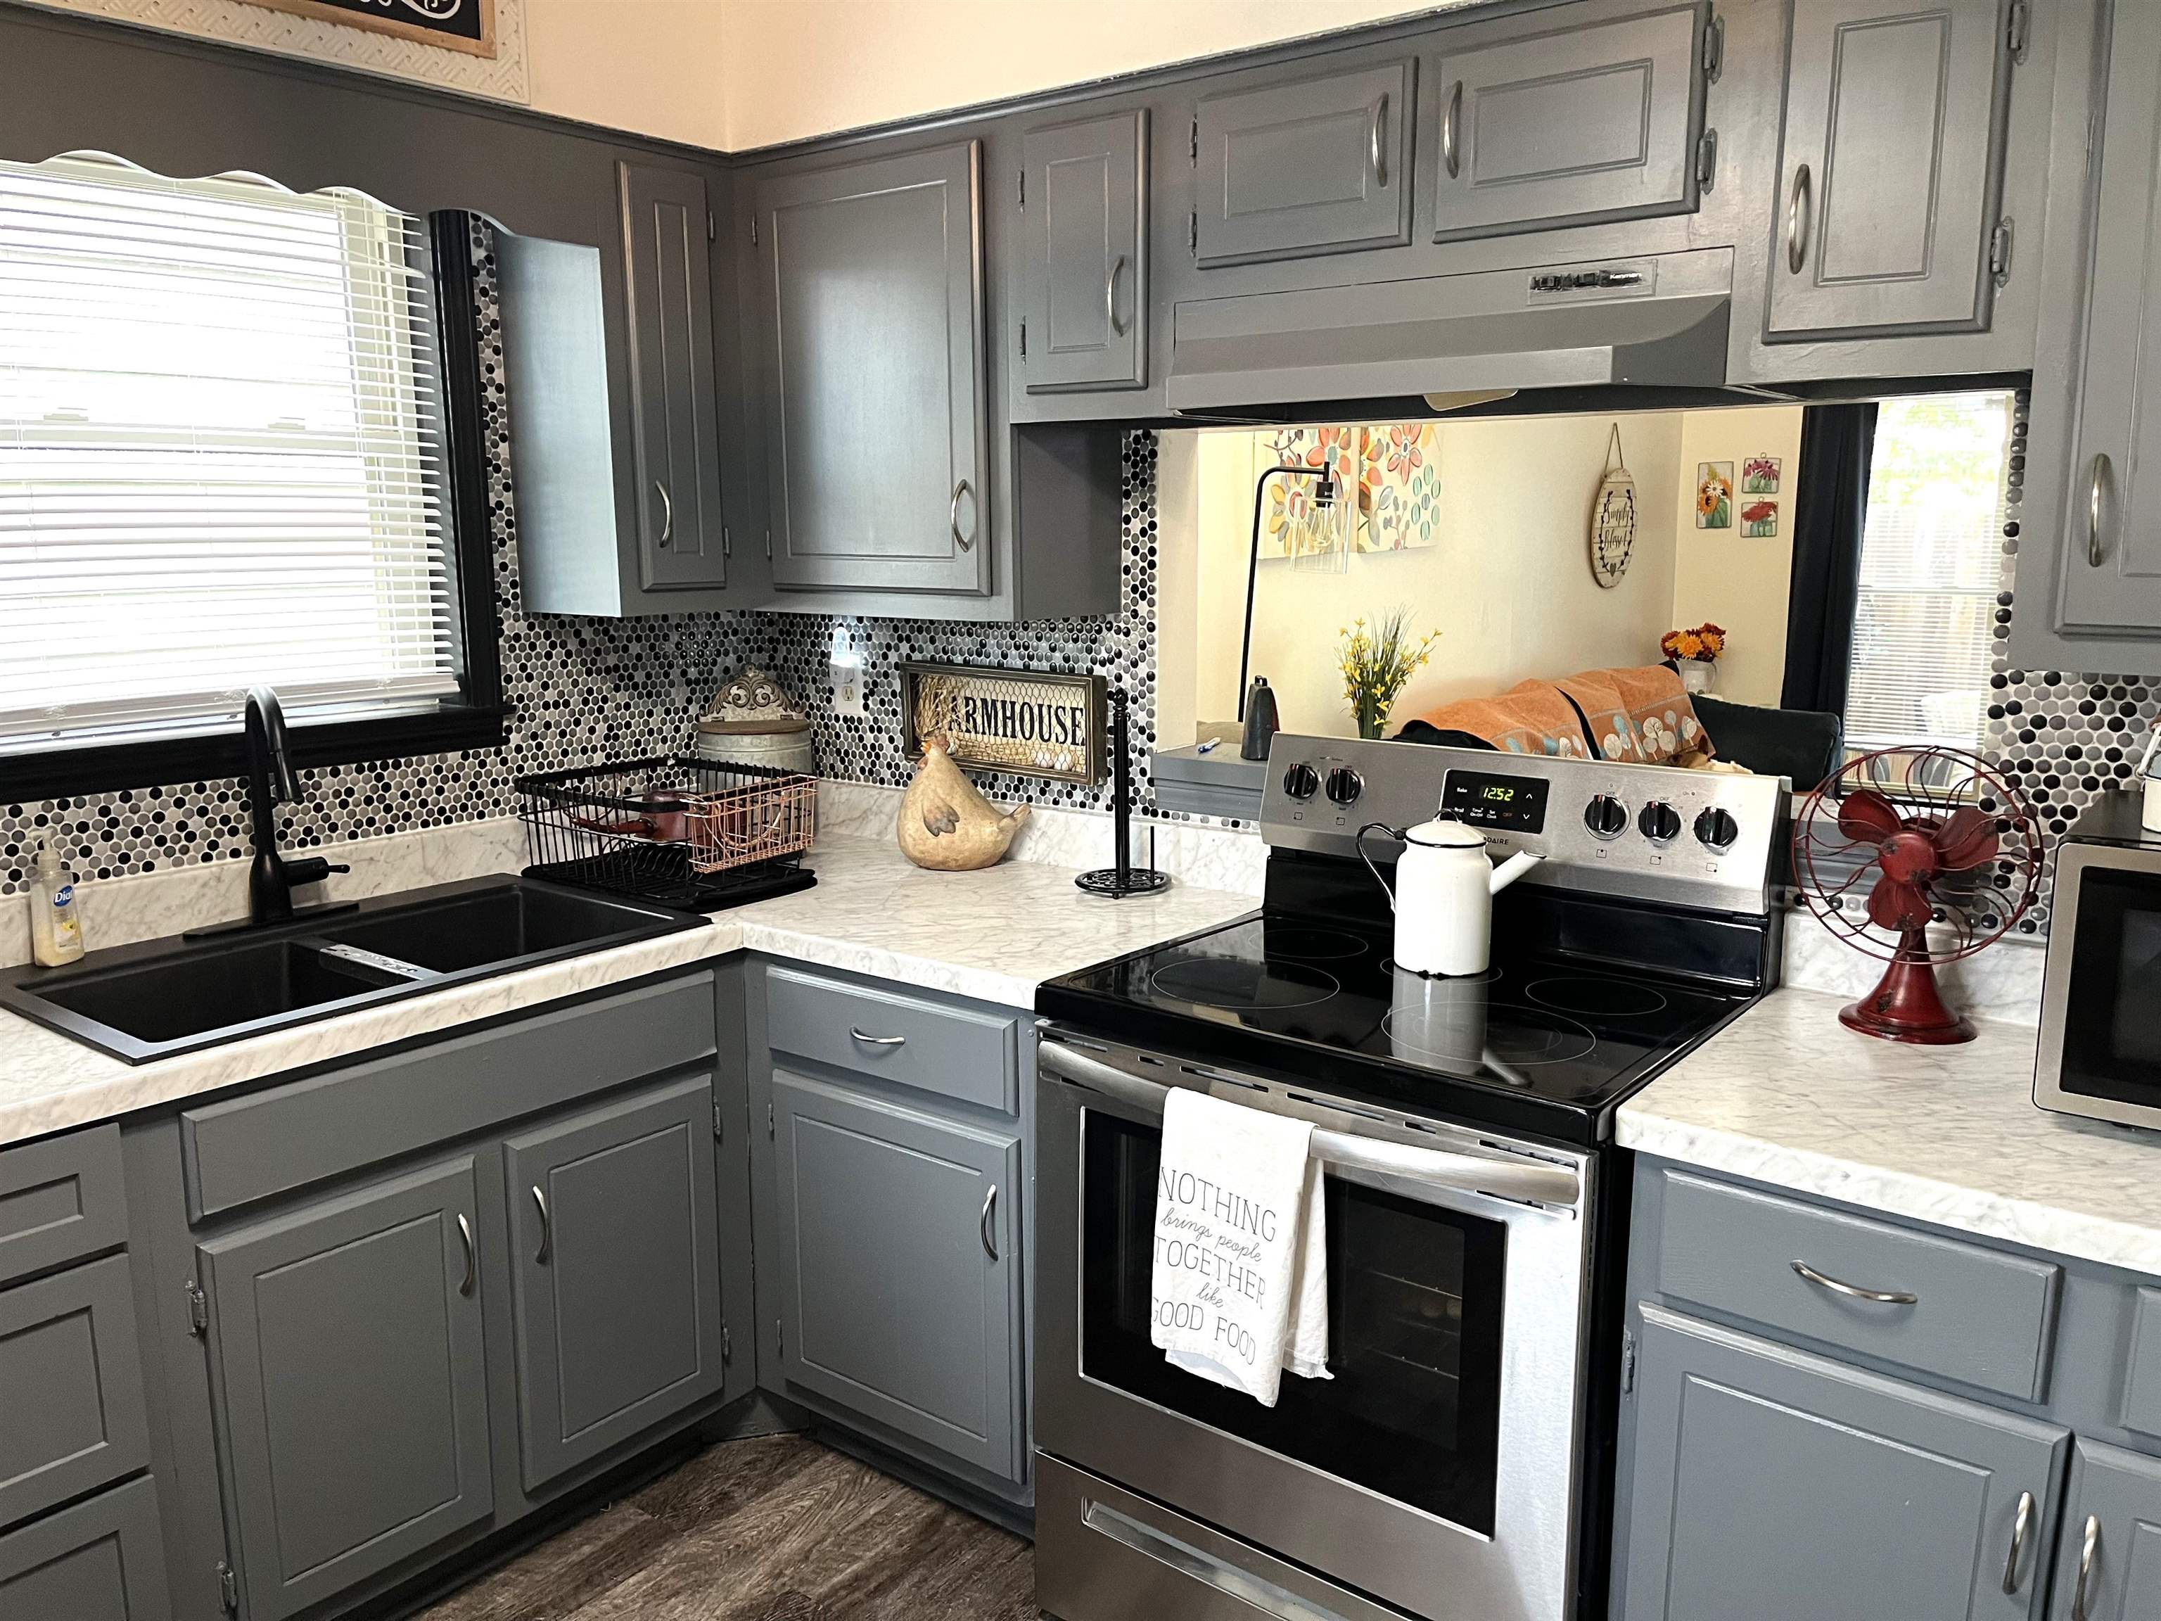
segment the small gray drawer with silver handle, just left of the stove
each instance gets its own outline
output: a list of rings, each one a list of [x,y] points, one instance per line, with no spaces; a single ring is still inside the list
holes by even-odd
[[[776,1053],[985,1109],[1020,1109],[1018,1014],[975,1014],[793,968],[767,968],[765,1031]]]

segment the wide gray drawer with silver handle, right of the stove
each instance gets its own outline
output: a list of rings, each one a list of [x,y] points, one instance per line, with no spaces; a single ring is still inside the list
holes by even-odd
[[[1668,1299],[2040,1401],[2059,1267],[1683,1171],[1666,1171],[1662,1193],[1657,1288]]]

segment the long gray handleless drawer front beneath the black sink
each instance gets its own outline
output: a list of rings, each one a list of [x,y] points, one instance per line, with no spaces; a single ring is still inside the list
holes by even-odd
[[[713,1053],[713,975],[188,1109],[188,1219],[456,1141]]]

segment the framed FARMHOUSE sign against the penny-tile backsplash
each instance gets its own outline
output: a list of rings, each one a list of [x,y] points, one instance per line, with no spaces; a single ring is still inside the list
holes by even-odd
[[[1104,679],[977,664],[901,666],[901,741],[910,759],[940,737],[955,765],[1055,782],[1100,782]]]

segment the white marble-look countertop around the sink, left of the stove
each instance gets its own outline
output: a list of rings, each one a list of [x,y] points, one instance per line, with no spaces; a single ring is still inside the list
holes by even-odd
[[[1227,923],[1256,906],[1251,895],[1184,884],[1163,895],[1106,901],[1074,888],[1070,869],[1037,862],[927,873],[890,839],[819,839],[808,860],[819,878],[815,888],[715,912],[700,929],[153,1063],[121,1063],[0,1012],[0,1143],[363,1055],[746,949],[1033,1007],[1044,979]]]

